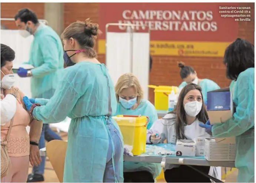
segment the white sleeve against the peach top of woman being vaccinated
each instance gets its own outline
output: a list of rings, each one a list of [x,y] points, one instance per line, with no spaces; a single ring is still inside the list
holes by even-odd
[[[10,122],[16,112],[16,98],[13,95],[6,95],[1,99],[1,125]]]

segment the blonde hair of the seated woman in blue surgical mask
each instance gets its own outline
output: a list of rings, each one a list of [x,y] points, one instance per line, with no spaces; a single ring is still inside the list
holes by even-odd
[[[138,78],[132,73],[126,73],[119,77],[115,86],[117,102],[119,102],[119,94],[123,91],[123,89],[127,89],[130,87],[134,87],[137,95],[137,104],[140,104],[143,99],[143,90],[140,86]]]

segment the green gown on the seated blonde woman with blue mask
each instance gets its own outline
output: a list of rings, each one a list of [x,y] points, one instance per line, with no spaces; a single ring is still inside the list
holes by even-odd
[[[120,103],[117,104],[115,115],[142,115],[149,117],[147,129],[150,129],[153,123],[158,119],[156,108],[148,100],[142,100],[135,110],[125,109]],[[124,172],[148,171],[152,173],[154,179],[161,173],[162,167],[160,163],[146,162],[124,162]]]

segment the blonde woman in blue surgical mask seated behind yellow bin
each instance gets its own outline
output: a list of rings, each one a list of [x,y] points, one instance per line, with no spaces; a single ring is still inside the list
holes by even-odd
[[[132,73],[120,76],[115,86],[117,111],[115,115],[147,116],[147,129],[158,119],[156,109],[143,99],[142,87]],[[124,182],[154,182],[161,173],[160,163],[124,162]]]

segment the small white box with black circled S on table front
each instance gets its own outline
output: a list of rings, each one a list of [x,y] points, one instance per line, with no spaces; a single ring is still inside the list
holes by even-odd
[[[194,140],[177,140],[176,156],[196,156],[196,143]]]

